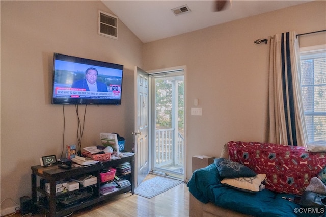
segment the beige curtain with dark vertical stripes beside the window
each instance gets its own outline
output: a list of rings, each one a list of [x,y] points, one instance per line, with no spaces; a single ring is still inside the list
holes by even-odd
[[[296,32],[271,37],[265,142],[307,146],[299,58]]]

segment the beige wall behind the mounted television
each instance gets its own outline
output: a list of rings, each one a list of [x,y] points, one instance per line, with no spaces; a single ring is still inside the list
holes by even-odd
[[[112,13],[100,1],[1,1],[1,200],[31,196],[30,166],[63,150],[63,106],[50,98],[53,52],[124,65],[122,105],[87,106],[82,145],[117,132],[131,148],[133,71],[142,67],[143,43],[122,22],[119,40],[98,35],[99,9]],[[74,105],[65,106],[65,118],[65,145],[77,144]],[[6,200],[1,210],[11,206]]]

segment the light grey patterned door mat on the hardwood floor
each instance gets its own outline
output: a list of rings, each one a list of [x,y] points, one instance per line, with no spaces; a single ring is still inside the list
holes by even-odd
[[[182,181],[179,180],[156,176],[152,179],[142,182],[134,190],[134,193],[146,198],[152,198],[181,183]]]

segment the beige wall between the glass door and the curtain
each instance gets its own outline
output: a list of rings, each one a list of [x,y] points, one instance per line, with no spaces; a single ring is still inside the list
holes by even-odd
[[[326,29],[326,2],[261,14],[144,45],[144,69],[186,65],[186,177],[193,155],[220,156],[231,140],[262,141],[269,43],[287,31]],[[300,46],[326,43],[326,33],[300,36]],[[191,116],[194,99],[202,116]]]

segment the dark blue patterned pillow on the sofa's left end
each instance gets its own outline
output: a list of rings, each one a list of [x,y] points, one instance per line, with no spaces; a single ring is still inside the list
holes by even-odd
[[[252,169],[229,159],[215,158],[214,163],[222,178],[252,177],[257,175]]]

